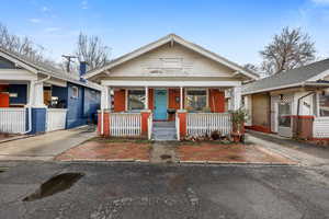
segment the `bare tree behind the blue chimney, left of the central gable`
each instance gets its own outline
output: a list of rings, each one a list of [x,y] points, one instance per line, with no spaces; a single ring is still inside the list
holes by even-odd
[[[87,61],[90,69],[102,67],[109,61],[110,48],[98,36],[80,33],[77,46],[76,56],[79,61]]]

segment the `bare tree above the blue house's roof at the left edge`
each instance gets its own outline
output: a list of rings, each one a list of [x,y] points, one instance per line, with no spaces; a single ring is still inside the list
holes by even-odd
[[[7,26],[0,23],[0,47],[25,56],[35,61],[45,61],[44,47],[35,45],[29,37],[20,37],[11,34]]]

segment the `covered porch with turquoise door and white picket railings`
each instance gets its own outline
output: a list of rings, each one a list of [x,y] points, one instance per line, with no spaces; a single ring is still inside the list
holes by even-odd
[[[228,136],[231,132],[228,112],[240,107],[237,81],[112,80],[102,81],[102,85],[99,132],[105,136],[154,139],[163,127],[159,125],[161,122],[171,122],[163,129],[168,132],[171,128],[174,139],[211,135],[214,130]]]

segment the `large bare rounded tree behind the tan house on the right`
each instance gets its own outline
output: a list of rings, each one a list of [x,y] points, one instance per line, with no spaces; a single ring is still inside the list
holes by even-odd
[[[268,74],[273,74],[313,61],[316,49],[309,35],[300,28],[284,27],[260,54],[263,57],[260,68]]]

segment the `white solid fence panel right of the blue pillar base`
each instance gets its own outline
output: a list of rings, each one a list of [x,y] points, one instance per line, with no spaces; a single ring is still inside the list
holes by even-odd
[[[47,108],[46,131],[65,129],[66,108]]]

